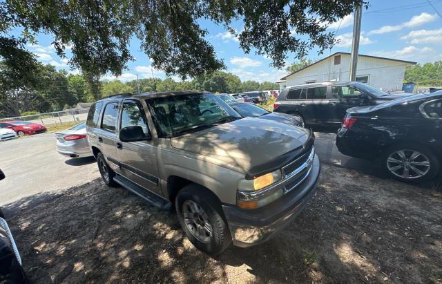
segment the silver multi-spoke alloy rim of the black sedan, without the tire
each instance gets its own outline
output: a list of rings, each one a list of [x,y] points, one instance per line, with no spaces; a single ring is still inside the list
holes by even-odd
[[[387,168],[395,176],[412,180],[425,176],[431,168],[430,159],[423,153],[403,149],[391,153],[387,158]]]

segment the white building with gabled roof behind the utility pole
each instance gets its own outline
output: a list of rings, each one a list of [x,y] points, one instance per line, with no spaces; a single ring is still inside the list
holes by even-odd
[[[416,62],[369,55],[358,55],[356,81],[383,91],[401,90],[405,68]],[[317,82],[349,81],[350,53],[334,53],[305,68],[282,77],[281,88]]]

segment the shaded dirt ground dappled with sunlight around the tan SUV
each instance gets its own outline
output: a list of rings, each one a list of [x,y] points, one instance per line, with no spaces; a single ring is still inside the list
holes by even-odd
[[[217,258],[175,213],[101,180],[4,209],[33,283],[442,283],[441,191],[325,164],[279,236]]]

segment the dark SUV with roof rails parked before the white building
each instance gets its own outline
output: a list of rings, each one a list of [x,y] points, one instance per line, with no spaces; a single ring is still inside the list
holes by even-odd
[[[360,82],[325,82],[283,89],[274,111],[302,117],[305,124],[340,124],[348,108],[371,106],[412,94],[389,94]]]

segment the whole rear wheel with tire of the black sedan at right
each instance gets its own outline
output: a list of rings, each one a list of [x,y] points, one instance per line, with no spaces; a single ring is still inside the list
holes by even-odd
[[[431,180],[441,169],[441,163],[433,151],[414,144],[392,146],[387,151],[383,151],[381,161],[385,172],[403,182]]]

